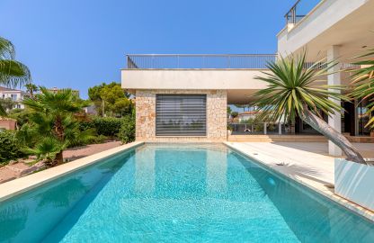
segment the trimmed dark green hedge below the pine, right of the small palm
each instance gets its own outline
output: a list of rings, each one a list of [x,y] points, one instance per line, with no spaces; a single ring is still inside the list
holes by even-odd
[[[116,136],[122,125],[122,120],[114,117],[97,117],[93,122],[98,135],[109,137]]]

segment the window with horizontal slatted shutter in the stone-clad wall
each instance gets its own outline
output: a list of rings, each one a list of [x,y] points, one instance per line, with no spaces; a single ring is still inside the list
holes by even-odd
[[[156,94],[156,136],[206,136],[206,94]]]

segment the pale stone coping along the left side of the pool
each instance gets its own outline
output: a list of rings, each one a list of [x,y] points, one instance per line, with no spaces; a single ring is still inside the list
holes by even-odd
[[[137,148],[144,143],[144,141],[131,142],[125,145],[121,145],[120,147],[111,148],[100,153],[76,159],[60,166],[51,167],[38,173],[26,175],[9,182],[5,182],[4,184],[0,184],[0,202],[4,202],[5,200],[12,198],[13,196],[27,192],[42,184],[47,184],[50,181],[58,179],[59,177],[62,177],[64,175],[68,175],[78,169],[93,165],[97,162],[100,162],[103,158],[111,157],[115,154],[128,151],[132,148]]]

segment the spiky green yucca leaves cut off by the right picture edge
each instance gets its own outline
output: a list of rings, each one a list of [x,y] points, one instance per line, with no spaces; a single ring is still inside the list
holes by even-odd
[[[374,49],[368,49],[366,54],[355,58],[361,58],[360,61],[354,64],[360,65],[360,68],[353,71],[352,85],[352,97],[361,99],[361,101],[369,101],[366,114],[370,117],[366,127],[374,130],[374,116],[371,114],[374,112]]]

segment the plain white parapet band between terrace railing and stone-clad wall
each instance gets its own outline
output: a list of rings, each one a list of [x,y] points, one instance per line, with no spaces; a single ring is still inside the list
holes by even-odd
[[[263,89],[266,84],[254,79],[261,70],[240,69],[123,69],[125,89]]]

